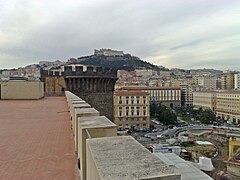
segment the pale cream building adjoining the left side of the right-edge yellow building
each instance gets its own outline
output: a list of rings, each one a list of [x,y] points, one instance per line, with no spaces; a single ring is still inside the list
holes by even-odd
[[[216,110],[216,91],[193,92],[193,106],[202,109]]]

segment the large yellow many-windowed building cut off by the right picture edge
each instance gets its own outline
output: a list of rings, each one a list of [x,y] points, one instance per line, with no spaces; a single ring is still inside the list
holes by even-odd
[[[240,91],[223,91],[216,94],[217,117],[240,123]]]

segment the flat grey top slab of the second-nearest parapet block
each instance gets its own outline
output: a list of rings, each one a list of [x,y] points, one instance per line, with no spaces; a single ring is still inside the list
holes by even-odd
[[[105,116],[89,116],[79,118],[79,125],[82,129],[97,129],[97,128],[116,128],[116,124],[110,121]]]

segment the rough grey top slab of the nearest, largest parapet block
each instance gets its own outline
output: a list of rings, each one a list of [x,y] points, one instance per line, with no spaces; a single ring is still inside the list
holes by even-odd
[[[180,180],[163,161],[131,136],[87,139],[100,179]]]

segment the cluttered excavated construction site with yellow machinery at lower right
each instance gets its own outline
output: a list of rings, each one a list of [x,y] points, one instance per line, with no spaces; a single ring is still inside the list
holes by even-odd
[[[153,153],[174,153],[213,179],[240,179],[239,128],[192,127],[157,137],[150,141],[139,138],[139,142]]]

